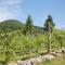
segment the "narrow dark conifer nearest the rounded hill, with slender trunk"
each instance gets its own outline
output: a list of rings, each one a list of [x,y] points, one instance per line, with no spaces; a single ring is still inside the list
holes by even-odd
[[[31,52],[31,49],[30,49],[30,40],[31,40],[31,31],[32,31],[32,21],[31,21],[31,17],[30,15],[28,15],[28,18],[26,21],[26,24],[25,24],[25,31],[26,34],[28,35],[28,42],[29,42],[29,53]]]

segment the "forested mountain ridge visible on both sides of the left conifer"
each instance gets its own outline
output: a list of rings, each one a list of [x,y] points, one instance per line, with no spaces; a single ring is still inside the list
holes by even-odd
[[[4,22],[0,23],[0,31],[13,31],[13,30],[23,30],[24,29],[24,24],[20,21],[16,20],[6,20]],[[43,34],[43,28],[39,27],[39,26],[34,26],[34,31],[36,32],[36,30],[39,34]]]

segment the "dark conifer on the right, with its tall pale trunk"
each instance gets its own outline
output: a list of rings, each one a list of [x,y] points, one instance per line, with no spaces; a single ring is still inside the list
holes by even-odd
[[[44,31],[48,34],[48,53],[50,52],[50,39],[51,39],[51,34],[53,31],[54,26],[55,25],[53,23],[52,16],[49,15],[44,23]]]

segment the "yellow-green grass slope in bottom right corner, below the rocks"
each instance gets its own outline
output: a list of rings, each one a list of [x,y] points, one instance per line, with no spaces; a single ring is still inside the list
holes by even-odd
[[[38,63],[37,65],[65,65],[65,55],[62,55],[60,57],[55,57],[52,61],[46,61],[42,63]]]

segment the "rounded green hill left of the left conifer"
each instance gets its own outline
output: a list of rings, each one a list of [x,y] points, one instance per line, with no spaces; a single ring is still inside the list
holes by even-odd
[[[13,31],[23,28],[23,23],[16,20],[6,20],[0,23],[0,31]]]

